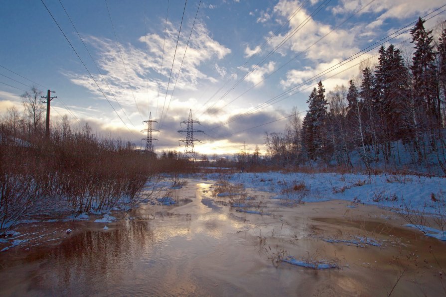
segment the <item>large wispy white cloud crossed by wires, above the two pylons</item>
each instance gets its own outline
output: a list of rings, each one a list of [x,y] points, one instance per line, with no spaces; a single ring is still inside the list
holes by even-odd
[[[127,79],[127,74],[121,61],[116,42],[110,39],[101,39],[94,36],[89,36],[85,39],[85,41],[88,41],[96,48],[97,55],[99,56],[99,59],[97,59],[96,62],[102,69],[101,71],[113,94],[120,101],[129,116],[129,113],[131,112],[138,112],[135,100],[138,103],[139,109],[143,113],[143,117],[148,116],[149,105],[154,106],[157,104],[161,58],[163,59],[163,65],[161,83],[159,85],[159,101],[164,101],[164,98],[169,100],[186,49],[188,38],[188,34],[184,34],[180,37],[178,42],[169,85],[169,93],[165,96],[167,80],[169,79],[170,68],[172,66],[171,61],[173,61],[176,38],[178,36],[177,30],[178,29],[171,23],[168,23],[163,56],[163,34],[161,36],[153,33],[139,38],[140,42],[147,42],[148,51],[146,51],[145,46],[143,49],[139,49],[132,44],[121,44],[121,52],[126,64],[127,74],[132,84],[133,95],[130,90],[129,80]],[[187,31],[187,29],[184,30]],[[200,67],[206,62],[221,60],[230,52],[230,49],[221,45],[210,36],[210,33],[204,24],[196,22],[182,64],[181,73],[175,87],[175,94],[179,91],[196,90],[199,81],[208,80],[210,82],[216,82],[214,78],[204,74],[200,70]],[[94,73],[94,71],[92,73]],[[71,81],[76,85],[83,86],[93,94],[96,94],[98,99],[104,99],[102,93],[98,90],[96,84],[89,76],[69,72],[66,73],[66,75],[70,77]],[[108,99],[115,104],[116,102],[114,101],[113,95],[109,91],[107,85],[103,82],[101,76],[93,74],[93,77],[98,82]],[[135,99],[133,96],[135,96]],[[116,107],[116,109],[117,111],[120,110],[119,107]],[[132,118],[132,116],[130,117]]]

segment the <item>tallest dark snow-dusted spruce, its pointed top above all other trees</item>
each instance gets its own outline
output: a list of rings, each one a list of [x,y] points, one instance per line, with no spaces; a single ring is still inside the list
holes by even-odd
[[[411,70],[414,78],[415,108],[419,114],[427,116],[429,128],[432,129],[441,124],[440,98],[437,91],[432,30],[427,31],[424,22],[420,17],[411,29],[412,43],[415,44]]]

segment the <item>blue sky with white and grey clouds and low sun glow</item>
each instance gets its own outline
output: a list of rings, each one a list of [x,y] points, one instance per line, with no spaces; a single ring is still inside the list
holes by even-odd
[[[184,150],[177,131],[192,110],[195,151],[208,156],[265,152],[265,132],[282,132],[293,107],[303,117],[319,80],[347,86],[381,44],[410,55],[419,16],[435,32],[446,19],[443,0],[0,3],[0,116],[23,110],[30,87],[50,89],[52,121],[66,114],[139,147],[151,113],[160,152]]]

